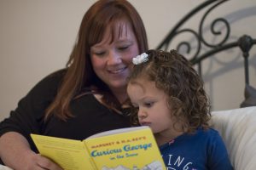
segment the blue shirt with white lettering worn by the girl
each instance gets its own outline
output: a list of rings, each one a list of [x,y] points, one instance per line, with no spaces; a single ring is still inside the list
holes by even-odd
[[[160,146],[167,170],[231,170],[228,152],[218,131],[199,128]]]

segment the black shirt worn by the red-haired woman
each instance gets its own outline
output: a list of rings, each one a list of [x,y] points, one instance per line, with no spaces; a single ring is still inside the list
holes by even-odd
[[[62,121],[51,116],[44,122],[44,113],[55,99],[65,70],[45,77],[20,99],[15,111],[9,118],[0,122],[0,136],[7,132],[18,132],[26,137],[32,150],[38,151],[30,133],[38,133],[67,139],[85,139],[92,134],[115,128],[130,127],[129,117],[110,111],[93,94],[86,94],[71,102],[73,117]]]

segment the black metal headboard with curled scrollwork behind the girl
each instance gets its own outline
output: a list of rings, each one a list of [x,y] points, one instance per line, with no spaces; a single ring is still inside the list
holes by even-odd
[[[213,54],[220,53],[229,48],[240,48],[243,56],[244,62],[244,72],[245,72],[245,84],[249,85],[249,69],[248,69],[248,57],[250,49],[256,44],[256,39],[250,37],[249,35],[241,35],[241,37],[236,38],[236,41],[230,42],[230,23],[223,17],[218,17],[212,21],[211,25],[209,26],[209,30],[212,32],[213,36],[221,37],[218,43],[210,43],[204,37],[204,23],[205,20],[212,12],[214,8],[217,8],[222,3],[226,3],[229,0],[207,0],[192,9],[188,14],[186,14],[182,20],[180,20],[176,26],[172,28],[172,30],[167,34],[166,38],[160,42],[157,46],[158,49],[168,50],[171,47],[171,44],[178,35],[181,35],[185,32],[189,32],[189,34],[193,35],[193,39],[190,40],[181,40],[181,42],[177,43],[177,51],[183,47],[186,48],[186,54],[188,54],[189,60],[192,62],[193,65],[197,65],[198,72],[201,75],[201,61],[211,57]],[[191,29],[185,27],[185,24],[188,20],[193,18],[195,14],[205,10],[206,12],[202,15],[201,20],[199,22],[199,26],[196,29]],[[198,15],[197,15],[198,16]],[[216,31],[215,27],[218,24],[222,24],[221,31]],[[232,37],[233,38],[233,37]],[[229,40],[229,41],[228,41]],[[196,46],[192,46],[191,42],[196,43]],[[202,50],[204,47],[204,50]],[[207,47],[207,50],[205,50]],[[193,54],[192,54],[193,49]],[[256,104],[255,104],[256,105]]]

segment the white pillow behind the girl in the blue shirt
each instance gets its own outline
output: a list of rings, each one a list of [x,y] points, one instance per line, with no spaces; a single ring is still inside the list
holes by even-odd
[[[218,130],[236,170],[256,169],[256,106],[212,111],[212,126]]]

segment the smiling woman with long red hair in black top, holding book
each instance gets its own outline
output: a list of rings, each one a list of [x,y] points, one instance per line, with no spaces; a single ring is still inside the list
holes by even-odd
[[[93,4],[84,14],[67,68],[38,82],[0,123],[3,163],[14,169],[61,169],[37,154],[30,133],[85,139],[130,127],[126,78],[131,58],[147,49],[143,20],[131,3]]]

